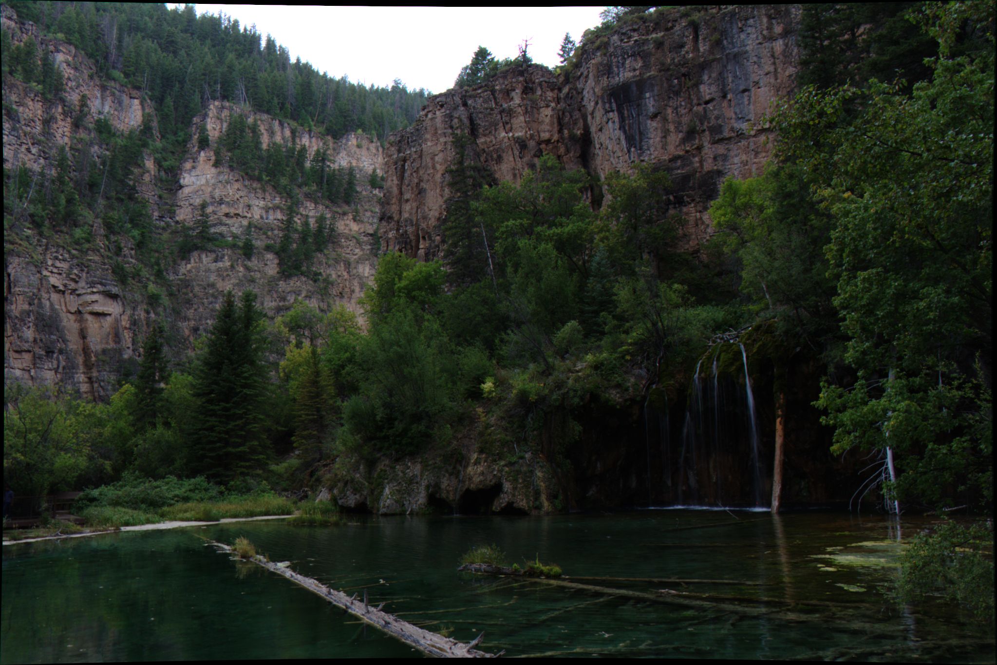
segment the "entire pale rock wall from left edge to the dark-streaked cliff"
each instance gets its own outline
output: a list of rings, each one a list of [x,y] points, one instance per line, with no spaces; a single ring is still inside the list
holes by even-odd
[[[93,63],[74,47],[39,35],[30,22],[3,8],[3,29],[15,44],[33,37],[40,50],[54,56],[65,78],[65,92],[46,101],[35,87],[7,76],[3,81],[4,166],[28,166],[46,176],[55,167],[60,147],[92,146],[93,122],[104,118],[118,132],[141,129],[154,136],[156,115],[139,91],[102,80]],[[78,120],[84,99],[86,118]],[[206,123],[211,146],[233,113],[241,110],[212,104],[194,119],[191,136]],[[262,114],[246,113],[260,128],[261,141],[305,146],[308,156],[325,149],[334,166],[352,165],[360,190],[352,207],[326,205],[302,198],[299,213],[311,221],[325,213],[336,240],[312,265],[317,279],[278,274],[276,256],[266,249],[278,241],[287,201],[272,187],[225,166],[214,166],[211,149],[187,147],[175,190],[168,185],[152,156],[136,167],[133,177],[140,195],[150,202],[153,218],[166,234],[175,233],[199,214],[207,202],[211,229],[221,242],[171,262],[165,257],[166,279],[123,281],[112,266],[136,267],[137,252],[126,237],[106,236],[100,215],[89,242],[68,234],[46,239],[23,224],[5,237],[4,367],[5,377],[28,384],[59,384],[82,394],[107,399],[119,377],[134,371],[142,340],[154,319],[165,320],[170,345],[177,353],[192,349],[192,340],[206,331],[228,288],[252,288],[268,314],[278,315],[301,298],[327,311],[344,304],[356,311],[364,285],[376,265],[380,190],[367,185],[371,169],[383,171],[381,146],[362,135],[339,141],[295,130],[288,123]],[[75,166],[74,166],[75,167]],[[237,249],[246,226],[253,225],[254,251],[246,259]],[[225,242],[225,241],[229,242]],[[227,245],[227,246],[226,246]],[[154,301],[162,293],[165,304]]]

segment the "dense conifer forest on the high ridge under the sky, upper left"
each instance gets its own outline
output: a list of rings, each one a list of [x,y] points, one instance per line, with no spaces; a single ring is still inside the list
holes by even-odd
[[[292,61],[286,47],[255,26],[240,26],[222,14],[196,15],[193,5],[170,10],[142,3],[6,4],[43,33],[93,58],[102,74],[146,93],[160,112],[165,137],[186,133],[205,104],[223,100],[334,139],[359,130],[383,141],[414,122],[428,96],[397,80],[375,88],[321,74],[300,58]],[[18,67],[22,61],[28,59],[18,58]]]

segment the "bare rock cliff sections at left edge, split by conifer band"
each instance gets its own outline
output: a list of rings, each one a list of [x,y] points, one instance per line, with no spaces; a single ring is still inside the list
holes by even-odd
[[[40,52],[51,54],[65,80],[63,95],[47,101],[35,87],[5,77],[4,167],[23,165],[50,174],[59,148],[68,149],[74,135],[87,135],[83,119],[104,118],[122,133],[139,130],[148,121],[156,135],[152,106],[138,91],[101,81],[90,59],[75,47],[41,36],[7,6],[2,12],[2,28],[13,43],[33,38]],[[144,163],[137,187],[155,210],[155,166],[150,156]],[[94,231],[97,242],[88,249],[5,237],[5,377],[107,397],[117,377],[134,363],[136,325],[141,328],[144,317],[112,273],[107,247],[100,246],[99,222]]]

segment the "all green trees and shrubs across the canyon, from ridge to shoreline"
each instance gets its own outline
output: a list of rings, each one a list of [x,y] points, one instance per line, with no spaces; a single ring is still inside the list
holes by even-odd
[[[144,90],[164,143],[189,141],[189,120],[216,99],[384,140],[426,97],[319,76],[189,6],[11,4]],[[638,14],[608,15],[565,52],[565,71]],[[517,511],[592,507],[587,497],[605,495],[586,490],[605,477],[586,460],[643,473],[651,442],[655,469],[686,455],[683,417],[712,365],[717,385],[751,394],[754,382],[764,395],[771,476],[784,443],[804,439],[780,434],[798,419],[824,454],[872,463],[855,484],[884,509],[991,514],[993,5],[808,5],[801,31],[799,92],[769,118],[775,157],[764,174],[723,182],[697,251],[667,204],[662,165],[599,178],[545,155],[518,183],[498,181],[456,133],[442,260],[382,254],[362,317],[298,302],[268,319],[253,292],[229,291],[191,356],[167,360],[154,329],[138,373],[107,404],[7,385],[5,483],[43,495],[203,477],[317,493],[366,476],[376,498],[386,466],[461,464],[474,442],[501,468],[549,469],[549,503]],[[5,42],[5,76],[58,89],[49,64],[16,51]],[[487,84],[498,67],[489,55],[476,53],[459,85]],[[134,159],[119,150],[122,164]],[[216,155],[291,196],[352,202],[356,173],[272,150],[232,123]],[[53,182],[45,214],[78,214],[69,166]],[[304,271],[322,229],[289,232],[279,269]],[[646,467],[643,447],[613,457],[619,432],[646,438]],[[765,504],[778,508],[771,476]],[[681,497],[665,493],[684,482],[668,468],[656,497]],[[652,485],[648,471],[648,498]],[[625,500],[637,503],[636,491]],[[920,537],[904,597],[946,593],[992,617],[993,535],[982,524]]]

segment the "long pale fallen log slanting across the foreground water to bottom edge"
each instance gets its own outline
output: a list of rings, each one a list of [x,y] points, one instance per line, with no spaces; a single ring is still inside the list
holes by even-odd
[[[207,540],[207,542],[223,552],[232,552],[232,548],[224,543],[215,542],[214,540]],[[328,600],[337,607],[342,607],[345,612],[353,614],[354,616],[359,617],[362,621],[371,624],[375,628],[383,630],[392,637],[396,637],[406,644],[414,646],[428,656],[436,656],[437,658],[495,658],[497,655],[501,655],[501,652],[498,654],[491,654],[475,649],[485,633],[479,635],[469,644],[458,642],[457,640],[452,640],[449,637],[444,637],[443,635],[414,626],[407,621],[403,621],[394,614],[382,612],[379,609],[370,607],[367,603],[366,592],[364,593],[363,600],[357,600],[356,593],[354,593],[351,598],[345,593],[335,589],[330,589],[328,586],[321,584],[311,577],[299,575],[288,567],[289,564],[286,561],[283,563],[274,563],[259,555],[253,556],[252,558],[248,558],[246,560],[252,561],[253,563],[263,566],[267,570],[272,570],[277,574],[287,577],[292,582],[322,596],[324,599]]]

